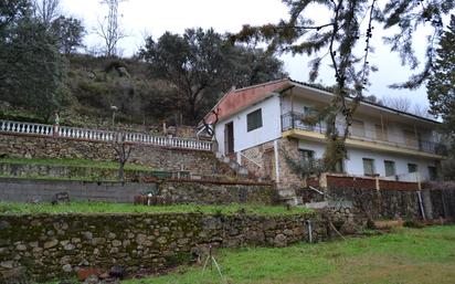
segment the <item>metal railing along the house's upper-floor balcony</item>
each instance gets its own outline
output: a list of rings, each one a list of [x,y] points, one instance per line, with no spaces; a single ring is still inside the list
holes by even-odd
[[[303,113],[287,113],[287,114],[282,115],[283,132],[290,130],[290,129],[300,129],[300,130],[315,132],[315,133],[320,133],[320,134],[326,133],[327,127],[325,123],[317,123],[316,125],[309,125],[304,122],[303,119],[304,117],[305,117],[305,114]],[[337,123],[336,127],[340,130],[340,133],[342,133],[345,129],[345,125],[340,123]],[[380,143],[380,144],[394,146],[399,148],[420,150],[420,151],[425,151],[425,152],[431,152],[431,154],[445,155],[446,152],[446,147],[442,143],[425,141],[421,139],[410,139],[409,141],[401,141],[403,137],[398,137],[398,136],[393,136],[389,134],[378,134],[375,132],[371,132],[367,129],[360,129],[360,130],[357,130],[356,133],[352,133],[352,129],[350,129],[349,138],[366,140],[366,141],[371,141],[371,143]]]

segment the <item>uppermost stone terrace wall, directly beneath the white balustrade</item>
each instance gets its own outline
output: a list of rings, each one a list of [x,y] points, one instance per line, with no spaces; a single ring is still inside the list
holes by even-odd
[[[0,135],[0,157],[116,160],[115,150],[109,143],[6,134]],[[150,166],[156,170],[186,170],[197,175],[235,175],[210,151],[133,144],[128,162]]]

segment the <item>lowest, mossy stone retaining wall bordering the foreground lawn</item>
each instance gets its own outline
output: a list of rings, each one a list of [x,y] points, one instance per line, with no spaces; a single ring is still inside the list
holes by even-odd
[[[83,266],[107,271],[123,265],[128,273],[158,271],[189,262],[198,248],[285,246],[332,232],[331,220],[342,233],[358,229],[348,209],[296,215],[162,214],[33,214],[1,215],[0,283],[13,277],[39,281],[71,277]]]

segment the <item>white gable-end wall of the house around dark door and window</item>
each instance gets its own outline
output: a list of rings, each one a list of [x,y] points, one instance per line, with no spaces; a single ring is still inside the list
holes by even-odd
[[[247,132],[246,115],[262,109],[263,126]],[[219,152],[225,154],[224,149],[224,126],[233,122],[234,125],[234,151],[251,148],[271,140],[282,135],[279,97],[272,96],[258,104],[250,106],[228,120],[223,120],[215,126],[215,138],[219,145]]]

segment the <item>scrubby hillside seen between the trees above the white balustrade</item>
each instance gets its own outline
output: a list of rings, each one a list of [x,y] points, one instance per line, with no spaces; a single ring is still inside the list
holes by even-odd
[[[106,128],[116,123],[159,125],[172,117],[174,92],[169,84],[150,78],[147,66],[133,59],[73,55],[68,59],[67,105],[61,109],[62,124]],[[33,109],[0,102],[0,118],[49,123]]]

